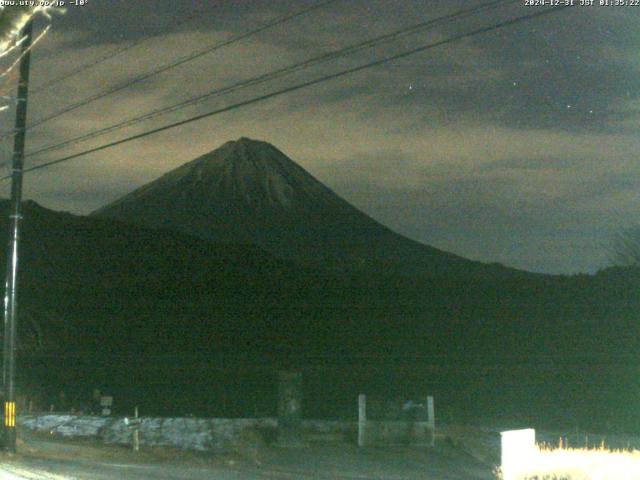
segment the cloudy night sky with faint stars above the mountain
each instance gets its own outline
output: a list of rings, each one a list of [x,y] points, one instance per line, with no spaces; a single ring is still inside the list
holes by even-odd
[[[135,39],[153,39],[34,94],[29,118],[313,3],[88,0],[70,7],[54,16],[34,52],[34,88]],[[338,0],[34,128],[28,150],[480,3]],[[511,2],[30,157],[27,166],[540,8]],[[555,12],[34,172],[25,193],[52,209],[89,213],[247,136],[271,142],[410,238],[532,271],[594,272],[607,265],[611,238],[640,222],[639,21],[640,7],[631,6]],[[2,93],[11,94],[10,79],[4,83]],[[12,123],[12,110],[3,112],[2,130]],[[2,146],[6,159],[10,144]]]

